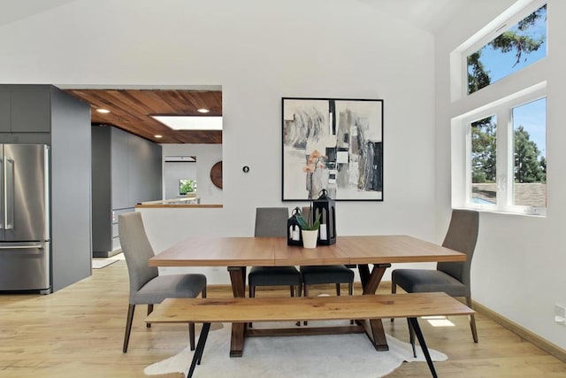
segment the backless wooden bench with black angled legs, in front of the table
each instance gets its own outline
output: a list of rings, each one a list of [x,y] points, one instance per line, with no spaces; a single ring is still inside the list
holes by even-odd
[[[465,315],[468,306],[445,293],[410,293],[344,297],[234,297],[165,299],[146,318],[148,323],[203,323],[187,377],[200,364],[210,323],[248,323],[256,321],[350,320],[407,318],[417,335],[424,357],[436,377],[417,317]],[[414,348],[414,340],[411,340]]]

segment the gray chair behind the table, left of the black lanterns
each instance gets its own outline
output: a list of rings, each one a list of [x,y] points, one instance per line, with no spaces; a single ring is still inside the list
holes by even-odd
[[[256,237],[287,237],[287,207],[256,208]],[[254,266],[249,270],[249,297],[256,297],[256,286],[289,286],[291,297],[295,289],[302,291],[301,273],[294,266]]]

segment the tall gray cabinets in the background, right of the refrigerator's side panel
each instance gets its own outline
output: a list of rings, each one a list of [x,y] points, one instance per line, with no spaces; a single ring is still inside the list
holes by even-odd
[[[117,127],[92,127],[93,256],[120,251],[118,216],[162,197],[161,146]]]

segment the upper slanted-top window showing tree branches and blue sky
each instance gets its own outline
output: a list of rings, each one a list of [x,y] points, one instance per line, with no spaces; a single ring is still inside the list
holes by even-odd
[[[468,94],[546,56],[547,4],[544,4],[467,56]]]

